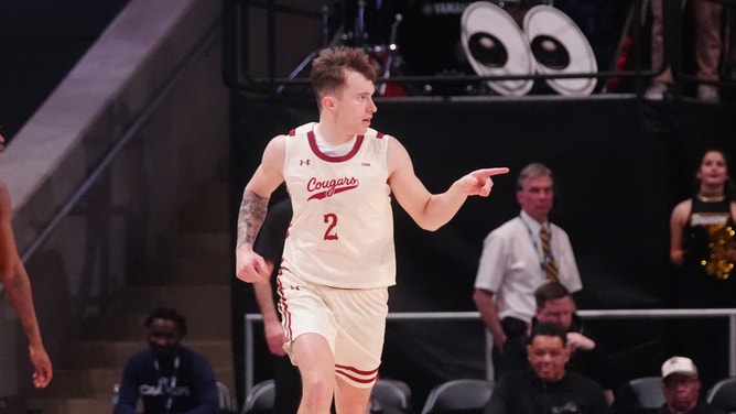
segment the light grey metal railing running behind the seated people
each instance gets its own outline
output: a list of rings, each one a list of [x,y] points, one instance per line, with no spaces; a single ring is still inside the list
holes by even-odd
[[[736,308],[723,309],[586,309],[577,310],[585,319],[679,319],[679,318],[728,318],[728,374],[736,375]],[[389,313],[387,320],[480,320],[478,312],[401,312]],[[246,393],[253,386],[253,326],[262,323],[260,314],[246,314],[245,317],[245,366]],[[486,330],[486,377],[493,373],[490,345],[493,339]]]

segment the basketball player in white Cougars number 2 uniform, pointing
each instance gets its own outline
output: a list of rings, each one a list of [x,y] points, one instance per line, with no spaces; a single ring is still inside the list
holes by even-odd
[[[312,63],[318,122],[278,135],[246,185],[238,217],[237,277],[269,277],[252,243],[269,197],[285,182],[293,218],[278,276],[285,350],[302,377],[300,414],[365,414],[378,377],[388,286],[396,282],[391,195],[422,228],[445,225],[468,196],[488,196],[474,171],[442,194],[415,176],[407,150],[370,129],[376,72],[358,48],[324,50]]]

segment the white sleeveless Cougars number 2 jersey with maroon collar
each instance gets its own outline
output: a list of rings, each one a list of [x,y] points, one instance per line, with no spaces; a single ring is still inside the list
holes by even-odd
[[[283,176],[294,215],[282,266],[325,286],[396,284],[393,216],[388,185],[389,135],[368,129],[345,155],[317,148],[316,123],[285,139]]]

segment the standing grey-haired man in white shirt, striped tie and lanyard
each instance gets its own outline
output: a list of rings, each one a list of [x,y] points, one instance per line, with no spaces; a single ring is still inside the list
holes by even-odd
[[[580,291],[580,272],[567,233],[548,219],[554,204],[554,178],[549,167],[531,163],[519,173],[519,216],[484,240],[473,301],[494,337],[495,378],[524,368],[523,344],[537,304],[534,291],[550,280],[571,293]],[[546,232],[540,237],[540,230]],[[549,244],[549,249],[544,249]],[[546,251],[545,251],[546,250]],[[521,361],[521,362],[519,362]]]

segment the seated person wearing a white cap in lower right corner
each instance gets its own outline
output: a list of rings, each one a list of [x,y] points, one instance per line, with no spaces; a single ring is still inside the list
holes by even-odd
[[[690,358],[672,357],[662,363],[664,401],[660,414],[725,414],[700,399],[701,380]]]

